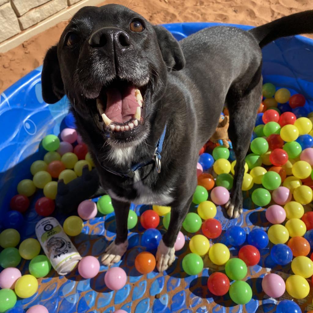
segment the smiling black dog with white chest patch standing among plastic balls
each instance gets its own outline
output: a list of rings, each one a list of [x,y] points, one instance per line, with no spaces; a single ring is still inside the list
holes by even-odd
[[[172,264],[197,185],[198,151],[225,103],[237,160],[226,208],[229,217],[239,216],[244,157],[261,98],[260,48],[309,32],[313,11],[249,32],[206,28],[179,43],[121,5],[85,7],[75,14],[44,59],[43,98],[55,103],[67,95],[100,184],[112,198],[117,234],[104,264],[119,261],[126,251],[131,202],[172,207],[156,254],[159,271]]]

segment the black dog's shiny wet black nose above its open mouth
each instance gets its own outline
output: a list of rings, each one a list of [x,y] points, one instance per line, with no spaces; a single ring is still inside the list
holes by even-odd
[[[92,48],[126,48],[131,46],[131,38],[121,28],[104,27],[93,33],[89,39]]]

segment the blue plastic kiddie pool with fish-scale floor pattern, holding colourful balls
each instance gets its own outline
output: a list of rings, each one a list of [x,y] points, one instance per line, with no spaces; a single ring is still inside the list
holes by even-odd
[[[164,26],[179,40],[202,28],[216,25],[223,24],[179,23]],[[243,25],[232,26],[245,30],[250,28]],[[302,36],[281,38],[263,49],[263,60],[264,82],[271,82],[278,88],[289,88],[291,94],[303,94],[307,100],[306,109],[308,112],[313,111],[313,40]],[[17,193],[18,182],[24,178],[32,178],[29,171],[32,162],[43,159],[46,151],[40,147],[40,141],[47,134],[59,134],[68,112],[69,103],[66,98],[51,106],[44,102],[41,95],[41,69],[38,67],[33,70],[0,95],[0,214],[9,210],[9,202]],[[32,199],[31,208],[24,215],[25,226],[20,230],[22,239],[34,236],[34,225],[39,217],[33,207],[36,199],[41,196],[42,194],[38,194]],[[244,208],[253,208],[249,198],[245,200]],[[133,206],[132,209],[139,215],[146,206]],[[245,210],[238,220],[224,218],[219,208],[217,217],[223,230],[237,224],[248,233],[254,227],[269,226],[264,212],[259,208],[254,212]],[[58,218],[62,220],[62,217]],[[3,225],[1,227],[0,230]],[[74,244],[82,255],[99,256],[104,251],[107,240],[112,240],[114,236],[114,213],[111,213],[105,219],[101,217],[85,222],[83,233],[75,237]],[[277,301],[262,293],[260,277],[264,275],[264,268],[272,268],[284,274],[291,272],[290,268],[275,267],[268,258],[268,249],[264,249],[261,251],[259,265],[250,268],[248,272],[247,282],[254,293],[252,300],[247,305],[235,305],[229,297],[222,299],[208,292],[206,280],[211,265],[210,269],[204,269],[199,275],[186,276],[183,273],[181,260],[187,251],[187,244],[177,253],[179,262],[176,260],[167,272],[139,275],[134,269],[134,258],[142,248],[139,240],[140,236],[136,232],[130,233],[130,249],[121,263],[117,264],[128,275],[126,286],[122,290],[108,290],[103,282],[104,273],[100,273],[95,279],[83,280],[78,278],[77,272],[67,277],[58,277],[50,272],[48,277],[39,279],[40,287],[35,295],[18,300],[16,308],[8,312],[21,313],[35,304],[45,305],[49,313],[100,313],[113,312],[119,308],[135,313],[275,312]],[[233,249],[232,254],[237,255],[238,251]],[[208,260],[204,261],[208,264]],[[19,268],[26,273],[28,262],[22,261]],[[100,270],[104,269],[106,267],[101,266]],[[157,294],[160,297],[155,297]],[[308,310],[304,300],[299,304],[303,311]]]

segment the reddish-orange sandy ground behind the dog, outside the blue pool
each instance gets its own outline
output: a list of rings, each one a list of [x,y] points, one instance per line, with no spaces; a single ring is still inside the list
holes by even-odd
[[[284,15],[313,9],[312,0],[116,0],[151,23],[222,22],[258,26]],[[70,16],[69,16],[70,18]],[[66,26],[56,26],[0,54],[0,93],[43,62]],[[313,38],[313,36],[310,36]]]

